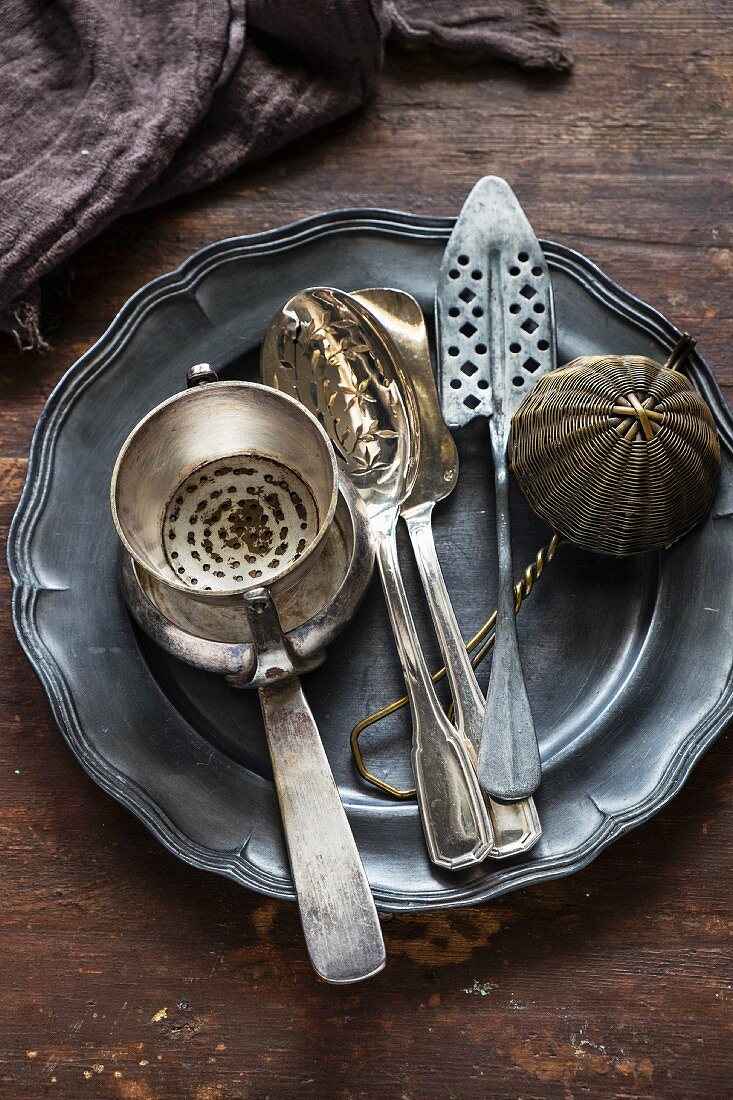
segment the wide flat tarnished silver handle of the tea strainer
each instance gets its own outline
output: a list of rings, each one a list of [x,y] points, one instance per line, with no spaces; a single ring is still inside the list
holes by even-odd
[[[277,612],[264,588],[244,597],[258,658],[286,666]],[[318,727],[292,675],[260,689],[275,789],[313,966],[325,981],[344,985],[378,974],[384,939],[357,844]]]

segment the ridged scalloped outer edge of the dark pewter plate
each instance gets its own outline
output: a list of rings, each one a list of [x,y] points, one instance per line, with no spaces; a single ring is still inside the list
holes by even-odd
[[[453,224],[453,218],[431,218],[392,210],[336,210],[276,230],[229,238],[207,245],[193,253],[175,271],[143,286],[125,302],[106,332],[56,385],[41,413],[31,442],[26,481],[8,538],[8,565],[13,581],[13,624],[48,696],[62,733],[95,781],[140,817],[175,855],[196,867],[226,875],[270,897],[294,898],[294,893],[285,879],[267,876],[248,862],[247,846],[239,851],[222,854],[196,845],[175,827],[145,791],[110,768],[85,736],[70,692],[61,669],[43,644],[34,615],[36,596],[43,585],[35,574],[30,547],[33,529],[43,512],[51,484],[54,447],[68,410],[97,374],[124,346],[142,318],[165,298],[190,290],[211,268],[233,260],[271,255],[320,237],[342,232],[441,241],[448,239]],[[541,245],[551,267],[564,271],[592,297],[634,322],[663,348],[670,349],[675,344],[679,330],[652,306],[617,286],[595,264],[566,245],[550,241],[543,241]],[[712,371],[694,353],[687,373],[711,405],[721,441],[733,453],[733,416]],[[532,882],[580,870],[616,837],[657,813],[680,790],[697,760],[722,733],[731,717],[732,684],[733,680],[729,680],[725,691],[705,721],[691,730],[686,743],[679,746],[654,791],[623,813],[601,814],[598,829],[581,847],[559,857],[547,857],[511,867],[492,867],[490,886],[485,882],[462,884],[450,891],[413,894],[407,901],[404,895],[376,886],[374,893],[378,904],[381,909],[394,912],[477,904]]]

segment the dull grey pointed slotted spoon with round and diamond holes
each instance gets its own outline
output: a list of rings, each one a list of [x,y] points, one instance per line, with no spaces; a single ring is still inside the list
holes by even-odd
[[[504,179],[479,180],[463,205],[440,265],[436,318],[446,421],[490,418],[499,596],[479,779],[495,799],[513,801],[536,791],[541,767],[516,636],[507,448],[514,413],[554,370],[556,353],[547,263]]]

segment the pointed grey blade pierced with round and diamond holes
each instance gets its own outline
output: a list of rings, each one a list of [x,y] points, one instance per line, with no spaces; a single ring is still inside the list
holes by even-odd
[[[555,369],[553,286],[529,221],[505,179],[485,176],[461,210],[436,292],[438,387],[451,428],[511,419]]]

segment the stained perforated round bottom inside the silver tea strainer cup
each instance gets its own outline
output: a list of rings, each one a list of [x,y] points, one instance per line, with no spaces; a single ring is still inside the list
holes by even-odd
[[[174,493],[163,538],[179,580],[204,592],[266,584],[318,534],[318,508],[296,473],[238,454],[199,466]]]

